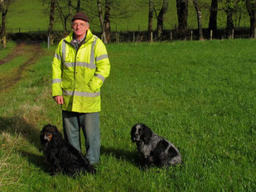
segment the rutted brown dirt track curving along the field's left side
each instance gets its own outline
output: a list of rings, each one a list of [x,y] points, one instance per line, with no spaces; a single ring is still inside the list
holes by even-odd
[[[35,64],[37,60],[41,58],[44,50],[41,49],[39,42],[21,42],[18,43],[14,50],[9,53],[5,58],[0,60],[0,65],[8,65],[7,63],[13,60],[18,55],[23,55],[27,57],[27,60],[22,63],[17,68],[14,68],[8,74],[1,74],[0,76],[0,92],[6,91],[12,88],[19,80],[22,79],[22,74],[24,74],[27,67]]]

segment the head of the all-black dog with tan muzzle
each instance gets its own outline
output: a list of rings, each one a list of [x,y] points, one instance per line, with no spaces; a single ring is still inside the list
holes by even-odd
[[[42,128],[40,134],[41,144],[51,142],[55,137],[62,137],[56,126],[48,124]]]

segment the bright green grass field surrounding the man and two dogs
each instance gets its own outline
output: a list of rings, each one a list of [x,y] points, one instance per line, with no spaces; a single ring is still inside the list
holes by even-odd
[[[54,49],[0,94],[1,191],[256,190],[254,40],[108,45],[101,161],[96,175],[76,180],[49,175],[39,142],[46,123],[62,132],[51,98]],[[137,122],[173,142],[183,165],[141,169],[130,140]]]

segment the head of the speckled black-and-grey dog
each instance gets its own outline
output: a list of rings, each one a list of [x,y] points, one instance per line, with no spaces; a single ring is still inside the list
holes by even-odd
[[[146,144],[150,141],[152,137],[152,131],[149,127],[144,124],[136,124],[132,127],[131,139],[133,142],[143,141]]]

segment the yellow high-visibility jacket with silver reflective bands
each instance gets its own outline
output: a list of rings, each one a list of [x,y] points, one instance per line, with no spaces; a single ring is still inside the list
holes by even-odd
[[[62,39],[52,62],[52,97],[63,95],[62,110],[100,111],[100,87],[109,76],[109,56],[104,43],[87,31],[76,51],[73,32]]]

